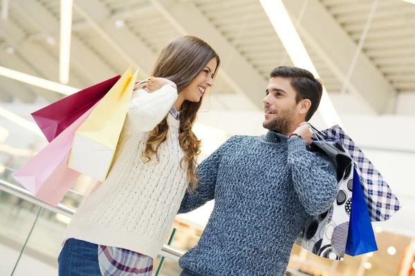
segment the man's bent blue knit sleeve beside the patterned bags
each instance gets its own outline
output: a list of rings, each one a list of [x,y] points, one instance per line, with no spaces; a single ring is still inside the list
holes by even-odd
[[[299,201],[309,215],[329,210],[338,193],[336,172],[329,157],[306,150],[306,141],[288,139],[288,164]]]

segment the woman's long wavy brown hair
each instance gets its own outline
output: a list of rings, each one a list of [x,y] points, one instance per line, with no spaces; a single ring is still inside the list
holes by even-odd
[[[197,75],[205,68],[208,62],[216,58],[219,68],[219,55],[209,46],[208,43],[192,36],[176,37],[163,48],[156,64],[154,65],[154,77],[163,77],[176,83],[178,93],[190,85]],[[203,99],[203,97],[202,97]],[[202,99],[199,102],[184,101],[181,106],[179,143],[185,152],[181,159],[180,166],[187,175],[187,190],[193,191],[197,186],[196,161],[201,152],[201,140],[197,139],[192,127],[197,119],[197,111],[201,107]],[[151,160],[152,155],[158,158],[158,148],[167,139],[167,116],[151,130],[150,137],[146,141],[145,150],[142,156],[145,163]],[[183,165],[185,163],[185,165]]]

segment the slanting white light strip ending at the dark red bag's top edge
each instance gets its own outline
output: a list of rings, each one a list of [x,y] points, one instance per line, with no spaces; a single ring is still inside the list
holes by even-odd
[[[8,77],[10,79],[15,79],[24,83],[31,84],[33,86],[45,88],[47,90],[52,90],[63,95],[72,95],[75,92],[78,92],[79,89],[73,88],[71,86],[65,86],[61,83],[56,83],[53,81],[48,81],[47,79],[41,79],[32,75],[28,75],[22,72],[11,70],[0,66],[0,76]]]

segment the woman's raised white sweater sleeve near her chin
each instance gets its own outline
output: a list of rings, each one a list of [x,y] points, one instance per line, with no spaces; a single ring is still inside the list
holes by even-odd
[[[137,90],[128,106],[128,116],[136,130],[151,131],[167,115],[177,99],[177,90],[165,85],[154,92]]]

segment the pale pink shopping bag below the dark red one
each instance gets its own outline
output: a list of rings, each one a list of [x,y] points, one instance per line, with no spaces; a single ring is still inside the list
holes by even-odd
[[[69,152],[75,131],[91,115],[95,106],[89,108],[12,175],[38,199],[57,206],[80,176],[80,172],[67,167]]]

